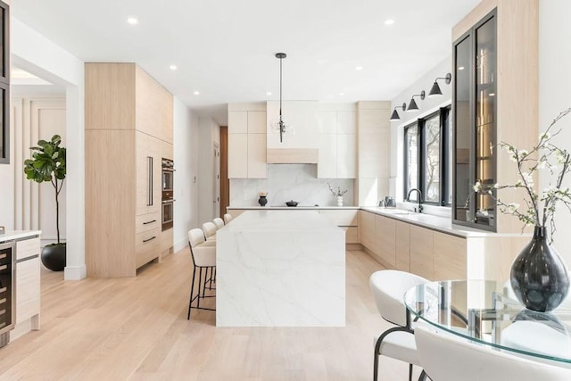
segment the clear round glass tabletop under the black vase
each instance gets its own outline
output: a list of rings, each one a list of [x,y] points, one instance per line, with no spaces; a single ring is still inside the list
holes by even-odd
[[[571,305],[550,312],[525,309],[487,280],[445,280],[404,294],[412,319],[501,350],[571,367]]]

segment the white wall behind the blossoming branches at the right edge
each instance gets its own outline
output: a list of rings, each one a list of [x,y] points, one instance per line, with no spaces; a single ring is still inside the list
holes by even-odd
[[[568,18],[571,2],[568,0],[541,0],[539,2],[539,129],[547,128],[559,112],[571,107],[571,49],[566,41],[571,39]],[[553,142],[571,151],[571,115],[560,120],[562,128]],[[546,187],[547,179],[540,177],[539,189]],[[564,186],[571,187],[571,176],[567,175]],[[566,236],[571,236],[571,212],[562,204],[555,213],[557,233],[553,236],[554,246],[559,249],[567,265],[571,266],[571,250]]]

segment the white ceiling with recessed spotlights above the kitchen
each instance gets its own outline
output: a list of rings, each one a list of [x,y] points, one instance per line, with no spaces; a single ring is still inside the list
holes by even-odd
[[[226,124],[228,103],[279,98],[277,52],[284,100],[390,100],[451,54],[479,1],[12,0],[12,14],[85,62],[137,62]]]

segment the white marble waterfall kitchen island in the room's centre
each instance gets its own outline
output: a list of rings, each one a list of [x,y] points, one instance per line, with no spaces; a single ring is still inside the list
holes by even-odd
[[[218,327],[344,327],[344,232],[317,211],[244,211],[216,252]]]

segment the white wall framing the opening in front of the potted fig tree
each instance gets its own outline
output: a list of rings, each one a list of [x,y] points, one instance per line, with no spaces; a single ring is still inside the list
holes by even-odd
[[[42,79],[66,87],[67,266],[66,279],[86,277],[85,265],[85,87],[84,63],[28,25],[11,19],[12,62]],[[13,189],[13,169],[0,173],[0,184]],[[2,201],[0,219],[13,221],[13,193]],[[12,222],[11,222],[12,223]]]

